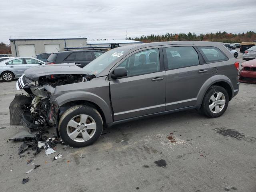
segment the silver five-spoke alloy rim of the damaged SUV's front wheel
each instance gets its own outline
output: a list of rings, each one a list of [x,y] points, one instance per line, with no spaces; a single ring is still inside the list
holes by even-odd
[[[76,142],[85,142],[90,140],[96,132],[95,120],[86,114],[80,114],[68,122],[67,133],[70,139]]]

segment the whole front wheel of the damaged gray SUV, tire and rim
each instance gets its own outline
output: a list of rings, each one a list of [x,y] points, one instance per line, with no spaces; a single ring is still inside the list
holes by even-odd
[[[103,121],[95,108],[76,105],[62,114],[58,128],[66,144],[84,147],[93,144],[100,137]]]

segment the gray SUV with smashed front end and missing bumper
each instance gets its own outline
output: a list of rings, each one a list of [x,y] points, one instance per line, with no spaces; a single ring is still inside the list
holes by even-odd
[[[188,109],[216,118],[238,94],[238,68],[222,43],[201,41],[122,46],[84,68],[39,66],[17,82],[28,96],[11,103],[11,125],[55,127],[66,144],[82,147],[130,120]]]

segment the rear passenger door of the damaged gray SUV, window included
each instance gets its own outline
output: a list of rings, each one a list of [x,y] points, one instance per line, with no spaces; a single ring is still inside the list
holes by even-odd
[[[210,78],[210,68],[194,45],[163,46],[166,69],[166,110],[197,105],[197,96]]]

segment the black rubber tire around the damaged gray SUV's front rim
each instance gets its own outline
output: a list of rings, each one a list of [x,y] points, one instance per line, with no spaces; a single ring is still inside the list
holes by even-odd
[[[93,120],[96,123],[96,130],[95,130],[94,134],[92,135],[92,137],[89,140],[82,141],[82,142],[72,140],[68,136],[68,130],[67,130],[68,122],[70,122],[70,120],[72,120],[72,118],[79,116],[80,114],[86,114],[86,115],[90,116],[91,118],[93,118]],[[80,129],[80,128],[77,128],[77,130],[78,129]],[[84,147],[84,146],[91,145],[94,142],[96,142],[96,140],[98,140],[98,138],[100,137],[100,135],[102,134],[102,131],[103,131],[103,120],[102,120],[102,117],[100,116],[100,113],[95,108],[93,108],[91,106],[85,106],[85,105],[76,105],[76,106],[69,108],[62,114],[60,121],[59,121],[58,130],[59,130],[60,137],[62,138],[62,140],[69,146]],[[79,130],[79,132],[81,134],[82,134],[82,131],[84,131],[84,130],[81,130],[81,132]]]

